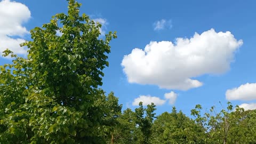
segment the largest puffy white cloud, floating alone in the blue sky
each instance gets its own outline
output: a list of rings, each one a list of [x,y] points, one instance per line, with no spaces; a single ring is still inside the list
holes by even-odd
[[[214,29],[193,37],[150,42],[135,48],[121,65],[130,83],[153,84],[164,89],[188,90],[203,83],[192,79],[204,74],[222,74],[230,68],[234,52],[243,44],[229,31]]]

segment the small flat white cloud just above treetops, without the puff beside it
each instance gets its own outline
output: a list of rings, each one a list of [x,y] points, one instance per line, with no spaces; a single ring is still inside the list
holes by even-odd
[[[133,106],[139,106],[139,103],[143,102],[143,106],[150,105],[153,102],[156,106],[164,105],[165,100],[162,100],[158,97],[151,97],[150,95],[140,95],[139,98],[133,100]]]

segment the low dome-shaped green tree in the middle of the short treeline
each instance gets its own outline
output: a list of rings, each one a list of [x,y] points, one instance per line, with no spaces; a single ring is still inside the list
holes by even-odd
[[[153,124],[151,143],[204,143],[205,133],[202,126],[196,124],[175,107],[172,113],[157,116]]]

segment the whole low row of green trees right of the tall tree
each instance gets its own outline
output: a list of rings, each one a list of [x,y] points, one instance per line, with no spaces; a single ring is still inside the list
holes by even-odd
[[[117,118],[113,143],[255,143],[256,110],[244,111],[228,102],[217,113],[215,107],[201,114],[201,105],[191,110],[191,119],[173,107],[171,113],[155,117],[155,106],[126,109]],[[149,113],[147,113],[147,111]],[[110,140],[109,140],[110,141]]]

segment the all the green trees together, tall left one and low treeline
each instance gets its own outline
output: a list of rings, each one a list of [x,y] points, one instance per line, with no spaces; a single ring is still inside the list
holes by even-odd
[[[256,110],[230,102],[190,116],[175,107],[156,115],[154,103],[123,109],[100,88],[117,34],[99,38],[100,23],[80,6],[69,0],[67,14],[30,30],[27,58],[3,52],[12,63],[0,66],[0,143],[256,143]]]

